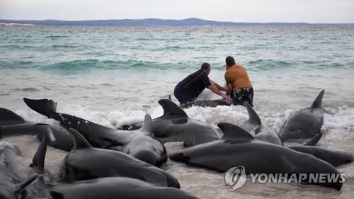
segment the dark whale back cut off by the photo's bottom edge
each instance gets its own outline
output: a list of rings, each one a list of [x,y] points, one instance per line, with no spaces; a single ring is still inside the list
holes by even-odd
[[[178,188],[155,187],[134,178],[98,178],[50,188],[53,199],[196,199]]]

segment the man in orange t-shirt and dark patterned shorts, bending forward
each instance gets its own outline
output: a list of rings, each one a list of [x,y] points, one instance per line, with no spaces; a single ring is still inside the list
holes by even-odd
[[[253,106],[253,87],[249,81],[249,74],[246,68],[240,64],[236,64],[234,57],[226,57],[225,81],[230,97],[234,105],[244,106],[244,102],[248,102]]]

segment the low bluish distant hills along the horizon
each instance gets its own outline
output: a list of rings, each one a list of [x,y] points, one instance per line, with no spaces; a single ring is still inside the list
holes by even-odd
[[[59,20],[5,20],[0,23],[34,24],[34,25],[113,25],[113,26],[188,26],[188,25],[309,25],[309,23],[235,23],[207,21],[200,18],[186,18],[182,20],[173,19],[113,19],[113,20],[91,20],[91,21],[59,21]]]

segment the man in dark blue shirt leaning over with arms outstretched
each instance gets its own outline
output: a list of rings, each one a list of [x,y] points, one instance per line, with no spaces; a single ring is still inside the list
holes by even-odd
[[[222,90],[227,92],[227,89],[219,86],[219,84],[215,82],[210,81],[208,77],[210,70],[210,64],[204,63],[197,72],[188,75],[177,84],[174,90],[174,96],[178,99],[181,105],[195,101],[195,98],[197,98],[205,88],[210,89],[219,96],[222,96],[222,98],[229,99],[229,96],[220,91]]]

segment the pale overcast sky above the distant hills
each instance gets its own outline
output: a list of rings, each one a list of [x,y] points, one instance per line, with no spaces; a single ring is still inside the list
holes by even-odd
[[[354,0],[0,0],[1,19],[354,23]]]

